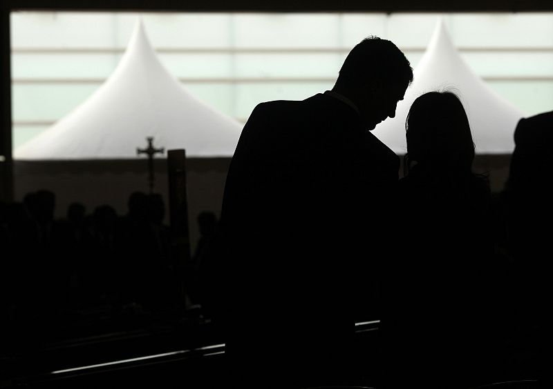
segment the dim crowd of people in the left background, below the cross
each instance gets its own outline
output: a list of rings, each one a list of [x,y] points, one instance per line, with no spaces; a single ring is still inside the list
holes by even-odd
[[[129,330],[152,315],[182,311],[160,194],[131,193],[124,215],[107,204],[87,212],[78,202],[65,217],[54,215],[50,190],[1,203],[1,308],[10,328],[3,335],[15,347],[91,335],[93,326]]]

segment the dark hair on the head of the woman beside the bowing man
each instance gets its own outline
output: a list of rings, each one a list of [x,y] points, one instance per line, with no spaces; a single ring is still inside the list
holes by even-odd
[[[467,112],[455,93],[428,92],[415,99],[405,130],[406,172],[416,161],[451,174],[471,174],[474,141]]]

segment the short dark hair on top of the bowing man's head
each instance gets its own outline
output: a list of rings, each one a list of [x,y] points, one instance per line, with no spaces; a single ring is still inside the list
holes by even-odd
[[[349,52],[341,66],[337,83],[344,86],[372,86],[393,83],[409,86],[413,68],[405,54],[392,41],[371,36]]]

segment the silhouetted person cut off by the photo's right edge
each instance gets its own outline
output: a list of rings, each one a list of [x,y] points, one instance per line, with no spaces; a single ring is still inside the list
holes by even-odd
[[[518,315],[538,329],[532,345],[538,353],[538,377],[553,383],[553,321],[549,307],[553,301],[551,237],[553,220],[553,180],[551,145],[553,111],[518,121],[509,179],[505,187],[508,206],[510,250],[518,283]]]

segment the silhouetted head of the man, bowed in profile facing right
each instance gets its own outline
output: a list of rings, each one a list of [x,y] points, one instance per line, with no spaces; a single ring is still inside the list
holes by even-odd
[[[332,90],[351,99],[368,130],[395,117],[397,101],[413,81],[413,68],[394,43],[368,37],[355,46],[342,65]]]

